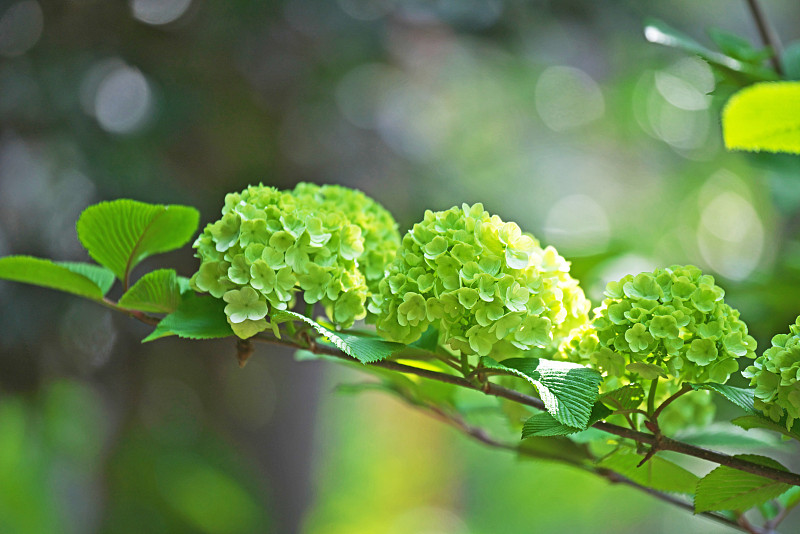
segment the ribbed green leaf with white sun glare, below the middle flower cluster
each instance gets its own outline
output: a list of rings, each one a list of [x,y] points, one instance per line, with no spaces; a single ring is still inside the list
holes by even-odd
[[[559,423],[585,429],[598,397],[600,373],[571,362],[510,358],[498,363],[488,356],[481,358],[485,368],[505,371],[536,386],[547,411]]]

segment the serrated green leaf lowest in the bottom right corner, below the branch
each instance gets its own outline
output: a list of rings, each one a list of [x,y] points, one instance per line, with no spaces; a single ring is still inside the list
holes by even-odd
[[[739,454],[735,458],[786,471],[786,468],[765,456]],[[792,486],[770,478],[746,473],[721,465],[697,483],[695,513],[717,510],[745,511],[774,499]]]

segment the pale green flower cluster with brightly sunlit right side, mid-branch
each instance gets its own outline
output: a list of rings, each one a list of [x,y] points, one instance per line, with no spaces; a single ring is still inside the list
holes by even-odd
[[[554,248],[481,204],[426,211],[373,295],[378,332],[410,343],[429,325],[462,354],[547,347],[587,320],[589,301]]]

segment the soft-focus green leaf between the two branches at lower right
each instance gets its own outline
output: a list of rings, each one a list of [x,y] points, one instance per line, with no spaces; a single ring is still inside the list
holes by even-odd
[[[699,478],[683,467],[656,454],[641,467],[644,457],[630,447],[620,447],[601,459],[597,465],[610,469],[634,482],[659,491],[694,493]]]

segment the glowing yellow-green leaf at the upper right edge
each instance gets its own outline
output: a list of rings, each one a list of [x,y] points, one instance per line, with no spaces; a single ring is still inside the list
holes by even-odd
[[[759,83],[742,89],[722,110],[728,150],[800,154],[800,82]]]

